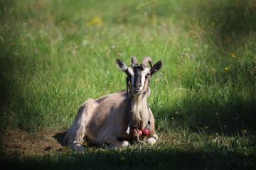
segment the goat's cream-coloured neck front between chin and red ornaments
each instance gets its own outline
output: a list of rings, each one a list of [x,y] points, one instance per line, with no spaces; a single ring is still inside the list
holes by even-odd
[[[144,129],[149,120],[149,110],[147,108],[146,96],[144,94],[134,95],[131,106],[132,120],[139,121],[139,129]]]

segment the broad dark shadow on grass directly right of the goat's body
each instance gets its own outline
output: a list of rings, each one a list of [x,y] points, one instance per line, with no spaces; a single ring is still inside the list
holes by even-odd
[[[210,92],[210,93],[214,93]],[[252,92],[253,94],[254,92]],[[212,96],[213,94],[207,94]],[[198,132],[208,128],[208,131],[224,135],[241,134],[243,130],[255,135],[256,132],[256,101],[255,98],[230,94],[228,101],[223,96],[201,96],[200,93],[191,97],[181,98],[178,104],[153,108],[158,130],[169,130],[173,127],[184,127]],[[199,97],[198,97],[199,96]]]

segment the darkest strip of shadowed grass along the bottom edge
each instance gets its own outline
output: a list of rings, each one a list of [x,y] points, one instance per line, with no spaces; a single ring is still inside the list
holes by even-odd
[[[254,157],[235,152],[185,152],[171,148],[68,152],[2,162],[19,169],[253,169]]]

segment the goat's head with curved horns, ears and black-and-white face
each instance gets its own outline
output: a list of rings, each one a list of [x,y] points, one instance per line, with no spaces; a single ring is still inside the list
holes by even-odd
[[[127,74],[129,90],[132,91],[133,94],[146,93],[151,76],[162,67],[161,61],[156,62],[152,67],[150,57],[145,57],[141,64],[137,63],[136,57],[132,57],[132,64],[129,67],[119,59],[117,59],[116,63],[117,67]],[[150,64],[150,68],[147,67],[147,64]]]

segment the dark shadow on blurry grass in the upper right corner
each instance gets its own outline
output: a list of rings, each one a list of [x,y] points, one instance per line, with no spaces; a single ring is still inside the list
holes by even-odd
[[[198,11],[202,14],[201,22],[209,28],[206,32],[212,33],[207,35],[212,42],[211,50],[213,46],[220,52],[243,52],[245,46],[255,49],[255,45],[247,43],[256,31],[255,1],[211,1],[202,7]]]

